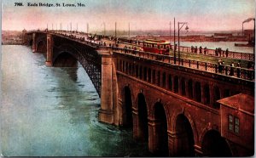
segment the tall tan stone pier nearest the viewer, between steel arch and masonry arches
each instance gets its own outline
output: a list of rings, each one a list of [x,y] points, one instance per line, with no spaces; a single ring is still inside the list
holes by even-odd
[[[102,90],[99,121],[119,125],[117,78],[114,72],[116,59],[108,50],[100,50],[98,53],[102,56]]]

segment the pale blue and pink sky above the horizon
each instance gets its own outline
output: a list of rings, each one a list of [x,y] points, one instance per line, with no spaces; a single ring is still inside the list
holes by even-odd
[[[22,2],[22,7],[15,3]],[[85,7],[28,7],[27,3],[84,3]],[[173,20],[187,22],[189,31],[241,30],[255,17],[255,0],[2,0],[2,30],[60,28],[86,31],[169,30]],[[176,25],[177,28],[177,25]],[[184,29],[185,27],[183,27]],[[253,29],[253,21],[244,23]]]

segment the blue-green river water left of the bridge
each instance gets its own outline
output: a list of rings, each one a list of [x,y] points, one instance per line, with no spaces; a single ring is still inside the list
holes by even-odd
[[[46,67],[31,50],[2,46],[2,155],[150,155],[131,129],[98,121],[100,99],[81,65]]]

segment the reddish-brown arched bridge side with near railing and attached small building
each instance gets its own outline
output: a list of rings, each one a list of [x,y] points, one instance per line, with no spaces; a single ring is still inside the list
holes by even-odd
[[[191,59],[175,64],[169,55],[114,47],[107,39],[105,47],[85,37],[32,31],[24,42],[32,44],[32,52],[46,52],[48,66],[79,61],[101,97],[99,120],[132,127],[133,137],[148,142],[156,155],[253,155],[253,70],[221,71]],[[243,100],[240,108],[232,107],[238,102],[220,104],[232,97]],[[228,130],[230,116],[239,120],[238,133]]]

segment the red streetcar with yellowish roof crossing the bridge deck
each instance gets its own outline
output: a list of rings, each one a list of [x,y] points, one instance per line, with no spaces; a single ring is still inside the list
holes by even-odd
[[[143,41],[143,51],[154,54],[169,55],[170,42],[165,40],[148,39]]]

